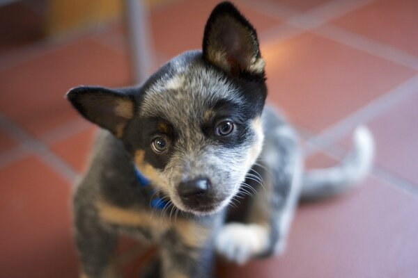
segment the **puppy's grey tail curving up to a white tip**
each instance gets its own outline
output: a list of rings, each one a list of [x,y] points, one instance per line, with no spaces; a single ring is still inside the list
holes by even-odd
[[[358,126],[354,147],[339,165],[309,170],[302,179],[302,200],[323,199],[345,193],[369,172],[374,156],[373,136],[366,126]]]

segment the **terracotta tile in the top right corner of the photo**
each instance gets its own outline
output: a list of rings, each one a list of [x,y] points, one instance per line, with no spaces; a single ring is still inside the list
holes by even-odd
[[[418,1],[373,1],[334,24],[418,56]]]

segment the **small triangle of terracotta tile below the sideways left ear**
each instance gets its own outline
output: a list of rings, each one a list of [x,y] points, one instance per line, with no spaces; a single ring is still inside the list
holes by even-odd
[[[97,128],[93,127],[54,142],[51,149],[77,172],[86,170]]]

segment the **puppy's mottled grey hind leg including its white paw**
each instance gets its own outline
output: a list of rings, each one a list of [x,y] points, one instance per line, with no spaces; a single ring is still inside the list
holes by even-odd
[[[217,252],[245,263],[254,256],[281,254],[300,195],[300,152],[293,130],[271,126],[258,163],[242,187],[251,194],[242,222],[229,222],[216,239]]]

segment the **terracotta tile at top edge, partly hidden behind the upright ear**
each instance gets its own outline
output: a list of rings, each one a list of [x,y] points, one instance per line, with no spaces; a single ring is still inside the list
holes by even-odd
[[[201,49],[206,20],[217,0],[186,0],[159,8],[151,13],[154,44],[168,57],[190,49]],[[280,21],[237,4],[238,9],[254,25],[258,34],[279,25]]]

